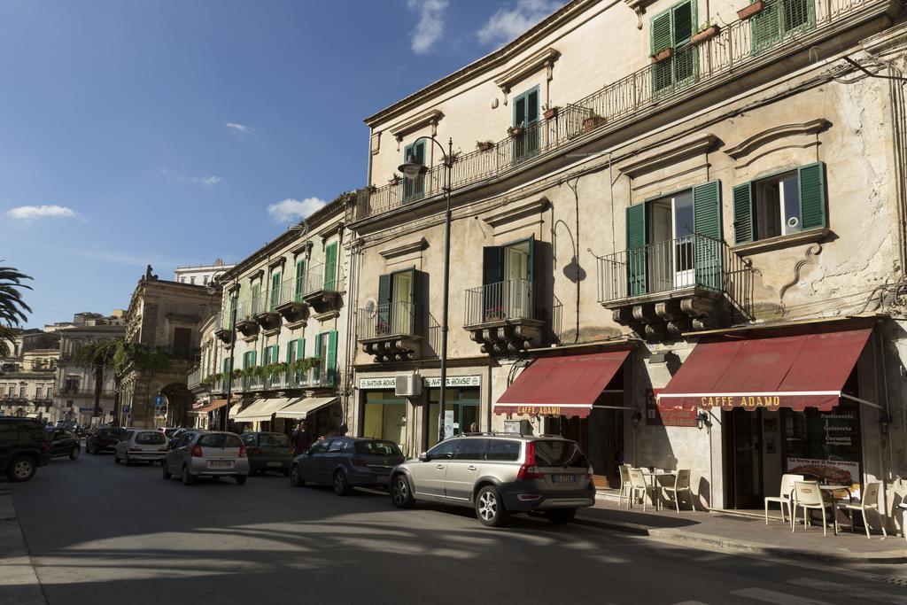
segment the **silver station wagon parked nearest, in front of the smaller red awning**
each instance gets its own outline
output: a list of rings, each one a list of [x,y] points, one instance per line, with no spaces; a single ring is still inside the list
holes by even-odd
[[[418,460],[397,465],[391,500],[470,506],[484,525],[498,527],[514,512],[542,512],[569,522],[595,503],[592,469],[580,445],[559,436],[466,434],[446,439]]]

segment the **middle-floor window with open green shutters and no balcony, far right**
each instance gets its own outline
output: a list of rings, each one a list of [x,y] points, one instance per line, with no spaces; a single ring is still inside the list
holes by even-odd
[[[825,166],[816,162],[734,188],[734,239],[743,244],[826,226]]]

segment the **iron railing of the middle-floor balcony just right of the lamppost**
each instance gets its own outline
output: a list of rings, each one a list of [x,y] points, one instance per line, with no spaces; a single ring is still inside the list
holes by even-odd
[[[466,325],[541,319],[534,282],[508,279],[466,290]]]

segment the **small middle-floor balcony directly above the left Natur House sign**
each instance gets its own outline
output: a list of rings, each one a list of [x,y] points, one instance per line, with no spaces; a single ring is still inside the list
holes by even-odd
[[[395,302],[360,308],[357,312],[359,343],[375,361],[414,359],[422,352],[419,306]]]

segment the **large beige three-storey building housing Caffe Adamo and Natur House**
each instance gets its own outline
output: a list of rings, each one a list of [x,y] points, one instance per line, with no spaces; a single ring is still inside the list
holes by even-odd
[[[905,51],[901,2],[575,0],[368,117],[351,429],[417,454],[445,389],[446,434],[571,437],[601,488],[882,482],[895,526]]]

